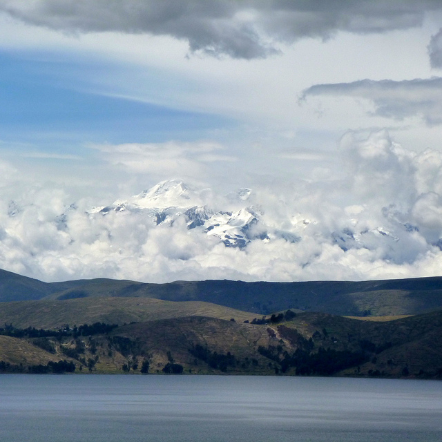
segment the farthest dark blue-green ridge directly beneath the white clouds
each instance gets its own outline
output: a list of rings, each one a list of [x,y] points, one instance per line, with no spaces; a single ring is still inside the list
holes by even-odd
[[[442,309],[442,277],[360,282],[205,280],[149,284],[95,279],[46,283],[0,271],[3,302],[102,296],[204,301],[260,315],[284,309],[345,316],[410,315]]]

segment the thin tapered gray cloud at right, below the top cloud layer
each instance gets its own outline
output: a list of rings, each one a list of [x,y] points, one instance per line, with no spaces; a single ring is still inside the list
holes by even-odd
[[[442,78],[403,81],[364,79],[352,83],[316,84],[306,89],[301,101],[310,96],[347,96],[373,102],[374,115],[394,119],[420,116],[426,124],[442,124]]]

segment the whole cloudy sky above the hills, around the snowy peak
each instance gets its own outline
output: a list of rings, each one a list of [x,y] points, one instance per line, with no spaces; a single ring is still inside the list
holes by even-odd
[[[440,275],[441,128],[439,1],[0,0],[0,268]],[[88,215],[164,180],[211,189],[217,210],[252,189],[262,222],[301,240],[229,249]]]

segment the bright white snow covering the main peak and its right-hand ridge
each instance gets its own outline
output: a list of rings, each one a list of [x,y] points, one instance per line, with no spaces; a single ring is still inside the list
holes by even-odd
[[[207,189],[206,189],[207,190]],[[325,231],[318,220],[311,219],[302,213],[287,214],[287,220],[278,224],[271,221],[266,224],[264,211],[257,205],[247,205],[250,201],[251,189],[239,189],[226,195],[225,210],[215,210],[204,203],[204,191],[197,191],[181,181],[171,180],[156,184],[138,195],[126,200],[116,200],[113,204],[96,207],[88,211],[90,217],[106,216],[111,211],[115,213],[142,213],[154,225],[172,225],[182,220],[189,231],[219,238],[226,247],[244,248],[253,240],[264,242],[276,239],[296,243],[307,236],[323,236],[340,249],[373,249],[379,241],[385,242],[386,247],[394,247],[400,238],[396,232],[412,232],[407,228],[403,219],[397,216],[387,216],[385,226],[358,229],[357,219],[349,219],[350,227],[336,231]],[[241,207],[242,206],[242,207]],[[238,208],[240,207],[240,208]],[[70,208],[72,210],[72,208]],[[354,213],[352,213],[354,216]],[[357,215],[356,215],[357,216]],[[283,227],[282,227],[283,226]],[[390,226],[390,227],[388,227]],[[327,239],[328,238],[328,239]],[[390,245],[389,245],[390,244]]]

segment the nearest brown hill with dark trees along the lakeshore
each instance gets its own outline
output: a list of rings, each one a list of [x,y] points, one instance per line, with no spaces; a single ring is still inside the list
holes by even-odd
[[[440,311],[379,323],[305,313],[262,324],[186,316],[103,326],[3,329],[21,337],[0,336],[0,360],[26,372],[46,349],[48,363],[68,359],[77,372],[442,377]]]

